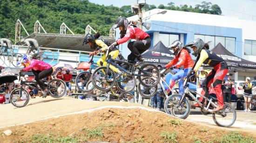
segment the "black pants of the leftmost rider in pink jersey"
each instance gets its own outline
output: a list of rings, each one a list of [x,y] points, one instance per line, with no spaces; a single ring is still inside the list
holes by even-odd
[[[44,82],[41,80],[43,78],[46,78],[48,76],[50,76],[53,73],[53,68],[49,68],[48,70],[44,70],[44,71],[35,71],[33,70],[34,76],[35,76],[35,81],[37,81],[37,83],[39,84],[39,86],[41,87],[42,90],[45,90],[46,87],[44,85]]]

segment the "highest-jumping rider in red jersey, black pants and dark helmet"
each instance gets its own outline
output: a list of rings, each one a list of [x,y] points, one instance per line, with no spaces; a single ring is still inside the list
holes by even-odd
[[[135,59],[137,58],[139,62],[138,64],[141,64],[143,62],[141,53],[148,50],[151,45],[151,39],[148,33],[144,32],[141,28],[138,28],[133,24],[133,21],[129,23],[125,17],[120,16],[112,28],[119,27],[121,30],[121,39],[115,41],[111,46],[115,47],[116,45],[127,42],[129,39],[135,39],[136,41],[129,42],[128,44],[128,48],[131,51],[131,53],[128,55],[128,60],[129,62],[134,63]]]

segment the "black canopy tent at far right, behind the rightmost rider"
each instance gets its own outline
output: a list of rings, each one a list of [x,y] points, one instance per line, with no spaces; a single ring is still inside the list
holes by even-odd
[[[229,67],[256,69],[255,62],[251,62],[249,60],[245,60],[243,58],[239,58],[233,55],[226,48],[224,48],[224,46],[221,43],[218,43],[218,45],[216,45],[215,48],[212,49],[212,51],[215,52],[221,58],[223,58],[227,62]]]

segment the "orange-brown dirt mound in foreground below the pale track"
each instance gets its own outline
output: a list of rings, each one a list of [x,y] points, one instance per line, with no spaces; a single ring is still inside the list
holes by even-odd
[[[11,136],[3,135],[12,130]],[[228,130],[139,108],[106,108],[0,129],[0,142],[179,142],[216,141]],[[243,136],[249,136],[243,133]]]

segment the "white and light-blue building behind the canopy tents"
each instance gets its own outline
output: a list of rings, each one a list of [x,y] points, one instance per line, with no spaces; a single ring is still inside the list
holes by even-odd
[[[256,21],[173,10],[166,10],[167,13],[161,14],[159,13],[161,11],[165,9],[150,10],[142,18],[143,22],[151,25],[148,30],[143,27],[143,30],[150,35],[151,47],[159,40],[167,46],[176,39],[180,39],[185,45],[195,38],[201,38],[205,42],[212,41],[210,49],[220,42],[234,55],[249,61],[256,61]],[[138,16],[129,17],[128,20],[138,20]],[[118,30],[116,38],[119,38]],[[130,53],[127,43],[120,45],[119,48],[127,58]],[[239,69],[238,71],[230,70],[235,80],[245,80],[247,76],[251,78],[256,76],[256,70]]]

